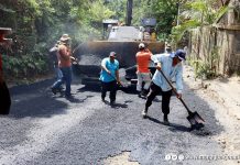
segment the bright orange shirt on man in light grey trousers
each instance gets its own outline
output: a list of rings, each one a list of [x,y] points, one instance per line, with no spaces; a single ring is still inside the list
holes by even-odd
[[[149,63],[151,61],[152,53],[149,50],[138,52],[135,55],[138,72],[150,73]]]

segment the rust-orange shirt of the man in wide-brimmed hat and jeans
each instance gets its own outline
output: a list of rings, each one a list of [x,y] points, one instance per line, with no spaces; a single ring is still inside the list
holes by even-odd
[[[58,67],[70,67],[70,48],[65,45],[58,46],[57,52]]]

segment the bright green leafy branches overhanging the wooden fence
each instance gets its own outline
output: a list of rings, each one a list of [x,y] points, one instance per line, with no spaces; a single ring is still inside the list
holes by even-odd
[[[203,25],[212,25],[227,11],[228,7],[222,6],[220,9],[214,8],[217,0],[195,0],[181,3],[181,24],[172,30],[172,37],[175,42],[179,42],[184,34],[190,29]]]

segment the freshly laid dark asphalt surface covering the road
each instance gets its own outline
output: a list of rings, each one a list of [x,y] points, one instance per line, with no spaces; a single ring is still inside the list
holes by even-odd
[[[164,125],[161,96],[151,106],[150,118],[142,119],[144,99],[134,92],[119,90],[117,105],[111,107],[101,102],[99,86],[85,87],[75,81],[74,98],[67,100],[51,92],[52,82],[10,89],[11,112],[0,117],[1,165],[95,165],[124,151],[142,165],[222,163],[203,157],[223,155],[214,141],[223,131],[214,106],[187,86],[184,100],[206,120],[198,131],[189,131],[187,112],[175,97],[171,101],[171,125]]]

